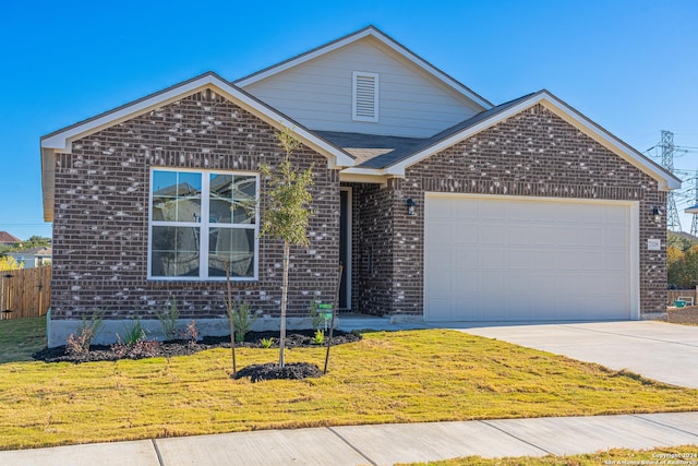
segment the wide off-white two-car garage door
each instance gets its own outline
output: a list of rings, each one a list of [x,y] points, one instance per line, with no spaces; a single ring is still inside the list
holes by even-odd
[[[424,316],[637,318],[633,203],[426,194]]]

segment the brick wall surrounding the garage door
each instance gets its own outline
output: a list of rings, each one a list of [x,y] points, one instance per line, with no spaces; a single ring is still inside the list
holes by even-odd
[[[409,167],[387,191],[383,198],[389,207],[382,208],[394,231],[393,291],[383,312],[422,313],[425,191],[638,201],[640,310],[664,311],[666,231],[651,213],[652,206],[665,205],[665,193],[541,105]],[[416,216],[407,216],[407,198],[419,205]],[[662,250],[648,251],[648,238],[660,238]]]

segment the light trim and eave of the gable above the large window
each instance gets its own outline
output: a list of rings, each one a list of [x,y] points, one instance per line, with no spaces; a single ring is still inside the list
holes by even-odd
[[[53,216],[55,155],[57,153],[69,154],[72,151],[73,141],[203,89],[213,89],[273,127],[279,129],[284,127],[292,128],[301,142],[327,157],[329,168],[354,165],[353,157],[342,150],[323,140],[294,120],[268,107],[244,91],[231,85],[217,74],[208,72],[41,138],[41,188],[44,191],[44,218],[46,222],[52,222]]]

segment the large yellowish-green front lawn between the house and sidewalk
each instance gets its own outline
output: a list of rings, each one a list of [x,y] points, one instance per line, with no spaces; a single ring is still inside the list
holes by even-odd
[[[324,361],[323,348],[286,353],[288,362]],[[275,349],[239,348],[238,367],[277,357]],[[229,371],[224,348],[171,359],[0,365],[0,449],[698,408],[696,390],[443,330],[365,334],[333,348],[329,373],[320,379],[253,384]]]

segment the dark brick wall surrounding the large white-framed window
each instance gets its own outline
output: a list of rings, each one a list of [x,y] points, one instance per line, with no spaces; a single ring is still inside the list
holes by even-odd
[[[51,318],[148,316],[177,297],[182,318],[224,313],[225,282],[147,280],[149,168],[257,171],[278,165],[275,130],[210,91],[182,98],[73,143],[56,165]],[[339,179],[325,157],[297,151],[314,164],[309,248],[292,248],[289,315],[305,315],[313,291],[330,300],[339,258]],[[266,183],[262,180],[262,192]],[[261,203],[264,214],[264,199]],[[253,309],[278,314],[281,243],[260,240],[260,279],[236,285]]]

